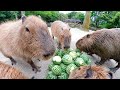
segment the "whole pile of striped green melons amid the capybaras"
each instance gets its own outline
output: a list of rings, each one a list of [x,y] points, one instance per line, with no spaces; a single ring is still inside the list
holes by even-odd
[[[48,65],[46,79],[68,79],[74,69],[90,64],[91,60],[87,53],[80,52],[79,49],[58,49],[52,58],[52,63]]]

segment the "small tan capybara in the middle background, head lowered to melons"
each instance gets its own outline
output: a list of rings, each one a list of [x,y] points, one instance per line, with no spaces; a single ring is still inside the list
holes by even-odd
[[[51,32],[53,38],[56,37],[58,39],[58,48],[60,49],[70,48],[71,33],[68,24],[62,21],[54,21],[51,24]]]

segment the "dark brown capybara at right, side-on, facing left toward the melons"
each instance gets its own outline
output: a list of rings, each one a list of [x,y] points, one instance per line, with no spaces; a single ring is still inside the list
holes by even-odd
[[[100,56],[99,65],[109,59],[117,61],[118,65],[111,68],[113,72],[120,67],[120,30],[118,29],[102,29],[87,34],[76,42],[76,47],[90,55]]]

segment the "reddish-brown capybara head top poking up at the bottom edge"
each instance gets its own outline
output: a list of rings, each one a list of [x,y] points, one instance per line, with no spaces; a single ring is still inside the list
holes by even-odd
[[[69,79],[112,79],[111,72],[105,70],[102,66],[81,66],[73,70]]]

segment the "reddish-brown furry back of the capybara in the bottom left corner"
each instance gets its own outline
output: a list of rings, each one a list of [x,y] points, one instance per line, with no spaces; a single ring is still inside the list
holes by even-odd
[[[19,69],[0,61],[0,79],[28,79]]]

